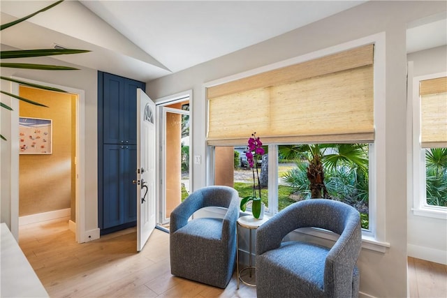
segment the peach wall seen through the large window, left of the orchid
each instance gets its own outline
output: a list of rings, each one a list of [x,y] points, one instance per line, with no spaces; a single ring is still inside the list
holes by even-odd
[[[216,147],[214,184],[233,187],[234,185],[234,148]]]

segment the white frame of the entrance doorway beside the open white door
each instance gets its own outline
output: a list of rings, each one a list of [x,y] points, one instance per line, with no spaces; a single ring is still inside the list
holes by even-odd
[[[179,92],[177,94],[173,94],[170,96],[165,96],[163,98],[158,98],[157,100],[155,100],[155,105],[156,105],[156,119],[157,121],[161,121],[161,115],[160,115],[160,107],[164,107],[166,105],[172,105],[173,103],[180,103],[182,101],[185,101],[187,98],[189,98],[189,189],[190,192],[193,191],[193,156],[192,156],[192,152],[193,152],[193,125],[194,125],[194,121],[193,121],[193,91],[192,89],[190,90],[186,90],[183,92]],[[159,202],[157,204],[157,210],[156,210],[156,222],[157,225],[159,225],[160,223],[162,223],[163,221],[163,210],[161,209],[163,206],[160,203],[162,198],[161,195],[163,194],[163,189],[161,188],[162,186],[162,179],[164,178],[164,172],[165,170],[163,169],[163,161],[162,161],[162,157],[163,154],[161,154],[161,150],[163,149],[163,133],[161,131],[161,127],[157,128],[156,130],[156,172],[158,173],[157,175],[157,181],[156,181],[156,198],[159,198]]]

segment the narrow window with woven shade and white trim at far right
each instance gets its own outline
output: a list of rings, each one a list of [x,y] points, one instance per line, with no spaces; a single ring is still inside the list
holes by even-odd
[[[413,80],[413,210],[447,218],[447,76]]]

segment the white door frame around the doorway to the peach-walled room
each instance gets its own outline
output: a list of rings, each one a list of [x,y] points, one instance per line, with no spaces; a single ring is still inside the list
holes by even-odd
[[[59,84],[28,80],[22,77],[13,77],[16,80],[24,80],[34,84],[41,84],[48,87],[54,87],[67,91],[69,94],[75,94],[76,99],[76,182],[75,182],[75,240],[78,243],[85,242],[85,91],[72,87],[66,87]],[[19,95],[20,84],[11,83],[11,93]],[[13,111],[11,112],[11,133],[18,135],[19,129],[19,104],[17,100]],[[17,138],[16,138],[17,139]],[[11,177],[19,177],[19,146],[18,139],[11,140]],[[11,232],[19,231],[19,181],[11,179]]]

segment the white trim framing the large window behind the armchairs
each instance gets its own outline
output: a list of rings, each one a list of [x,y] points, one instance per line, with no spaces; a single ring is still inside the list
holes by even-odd
[[[292,64],[298,64],[304,61],[316,59],[318,57],[335,54],[349,50],[353,47],[360,47],[374,43],[374,144],[369,148],[369,230],[362,231],[362,247],[372,249],[373,251],[379,251],[385,253],[386,248],[390,247],[390,244],[386,242],[386,33],[376,33],[371,36],[359,38],[357,40],[351,40],[347,43],[335,45],[325,48],[323,50],[317,50],[308,54],[303,54],[299,57],[280,61],[268,66],[262,66],[253,70],[245,71],[244,73],[238,73],[223,77],[218,80],[206,82],[203,84],[203,96],[206,97],[206,88],[223,84],[233,80],[240,80],[243,77],[249,77],[258,73],[273,70],[275,68],[281,68],[284,66],[290,66]],[[206,98],[205,98],[206,99]],[[206,102],[206,100],[205,100]],[[208,120],[209,107],[206,103],[205,106],[206,115],[205,120]],[[269,149],[270,150],[270,149]],[[269,158],[269,170],[270,168]],[[276,166],[275,166],[276,167]],[[212,147],[207,147],[207,185],[214,184],[214,150]],[[270,180],[270,179],[269,179]],[[269,181],[269,189],[272,187]],[[277,188],[274,188],[277,189]],[[274,193],[269,191],[269,206],[277,210],[277,202],[272,204],[272,198]],[[272,204],[272,205],[270,205]],[[270,211],[271,212],[271,211]],[[270,213],[269,212],[269,213]],[[247,213],[249,214],[249,213]],[[270,213],[272,214],[272,213]],[[316,233],[316,234],[315,234]],[[327,238],[325,233],[313,232],[314,236]],[[328,238],[330,239],[330,238]]]

